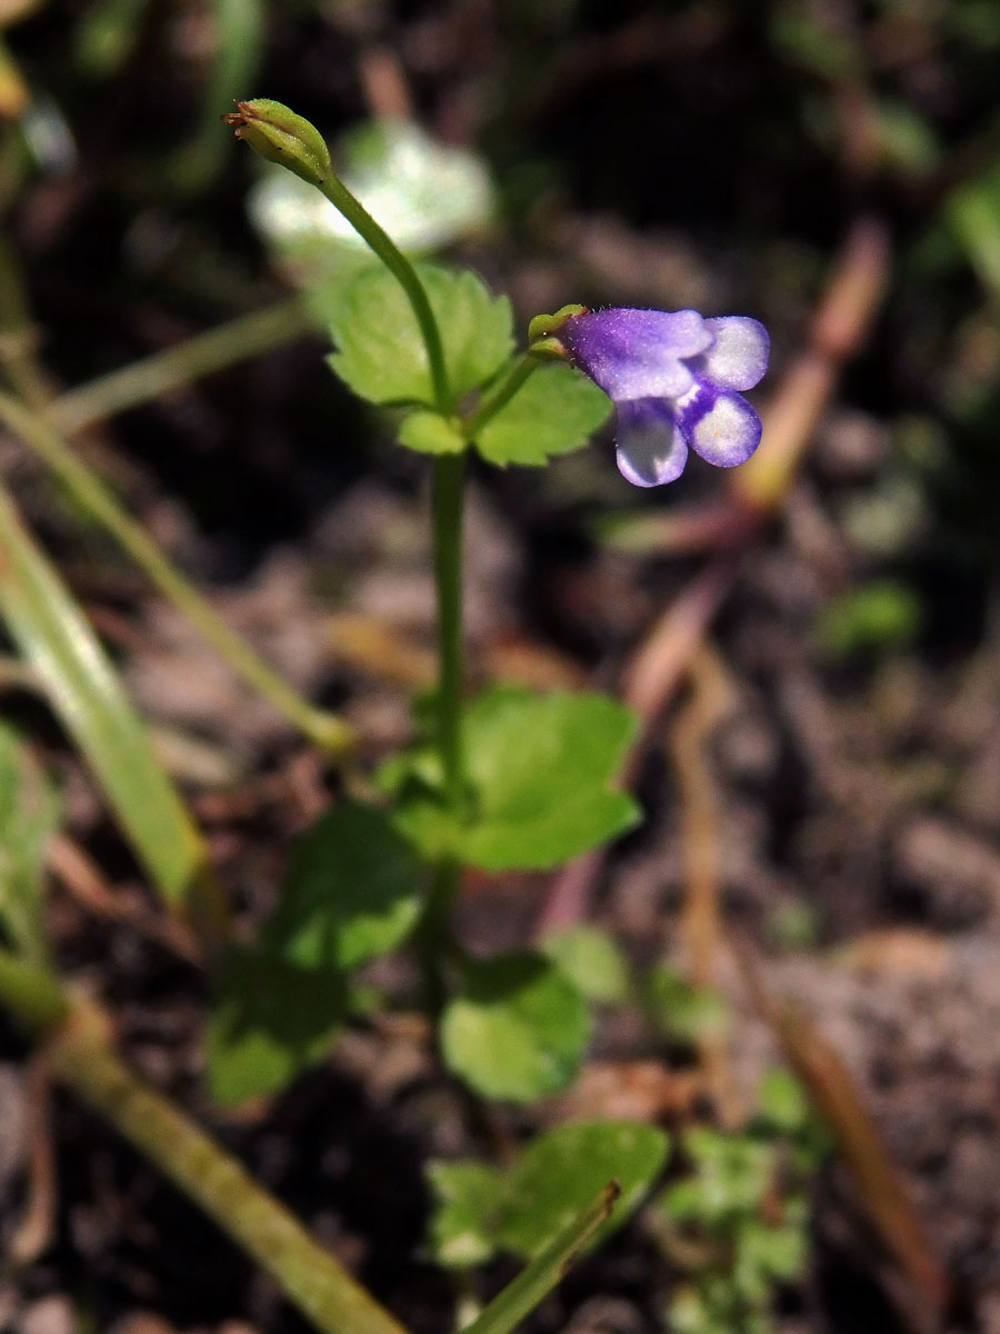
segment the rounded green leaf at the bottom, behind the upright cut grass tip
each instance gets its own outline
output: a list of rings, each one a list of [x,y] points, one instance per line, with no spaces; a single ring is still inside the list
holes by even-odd
[[[497,1245],[532,1255],[565,1227],[603,1185],[621,1194],[599,1235],[620,1226],[667,1159],[669,1141],[655,1126],[585,1121],[537,1135],[508,1171],[508,1191],[495,1229]]]

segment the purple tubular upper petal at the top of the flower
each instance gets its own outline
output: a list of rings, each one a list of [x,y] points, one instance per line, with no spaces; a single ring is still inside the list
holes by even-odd
[[[620,403],[679,398],[693,380],[685,358],[707,351],[713,335],[697,311],[588,311],[559,331],[569,360]]]

